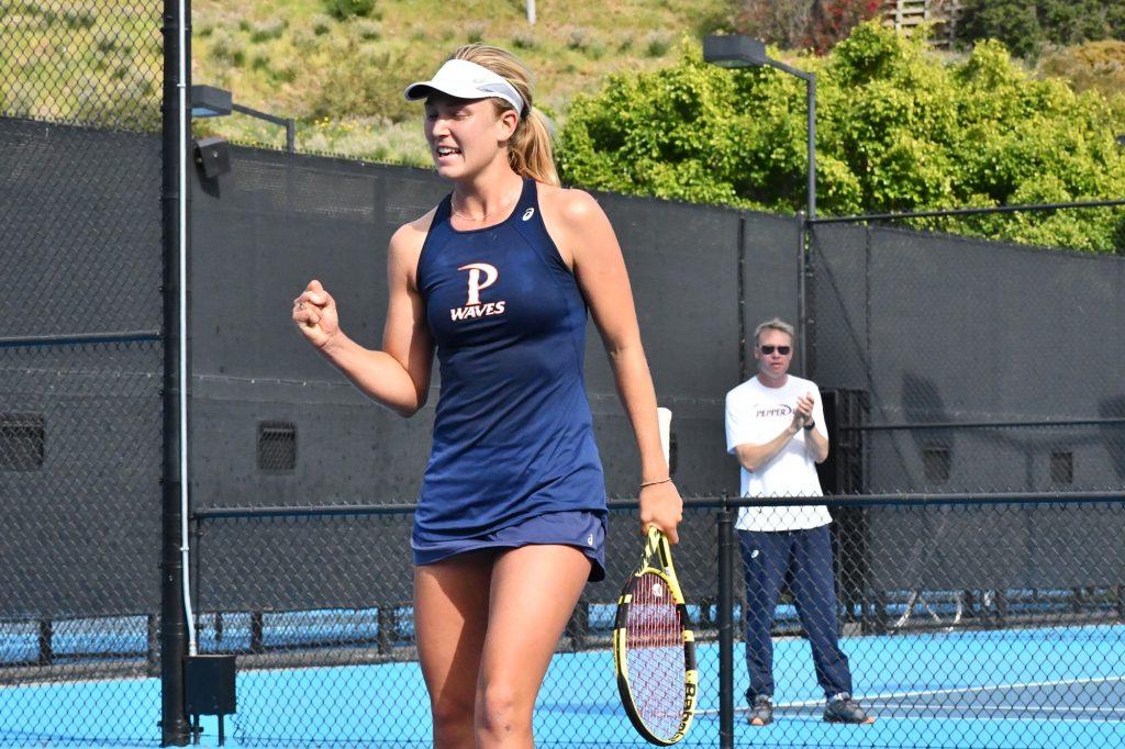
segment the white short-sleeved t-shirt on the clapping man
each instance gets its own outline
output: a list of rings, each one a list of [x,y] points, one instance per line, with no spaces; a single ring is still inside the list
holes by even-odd
[[[780,388],[767,388],[757,376],[727,394],[727,452],[740,444],[765,444],[789,428],[800,396],[813,397],[812,427],[825,437],[825,410],[820,390],[811,380],[790,374]],[[804,449],[801,430],[773,459],[756,471],[740,468],[744,497],[819,497],[817,463]],[[798,531],[831,522],[824,505],[806,507],[744,507],[736,527],[742,531]]]

